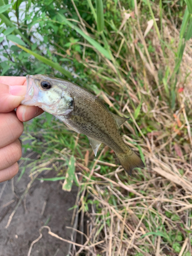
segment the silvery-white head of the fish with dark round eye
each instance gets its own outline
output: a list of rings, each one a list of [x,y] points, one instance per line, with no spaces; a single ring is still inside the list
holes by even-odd
[[[22,105],[39,106],[52,115],[73,111],[74,100],[63,80],[47,75],[27,75],[27,93]]]

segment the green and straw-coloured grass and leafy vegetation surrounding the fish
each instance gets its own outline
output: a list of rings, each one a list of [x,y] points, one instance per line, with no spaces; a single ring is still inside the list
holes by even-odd
[[[74,210],[90,223],[73,255],[192,255],[191,14],[191,0],[0,0],[1,75],[87,88],[130,117],[121,134],[146,166],[127,176],[109,147],[95,158],[49,114],[25,125],[25,150],[40,155],[31,183],[55,169],[63,189],[79,186]]]

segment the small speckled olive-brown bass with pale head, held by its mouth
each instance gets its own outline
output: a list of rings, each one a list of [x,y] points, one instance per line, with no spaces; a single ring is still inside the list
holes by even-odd
[[[73,82],[48,75],[27,75],[26,79],[22,105],[39,106],[73,131],[86,135],[95,156],[101,143],[108,145],[129,175],[134,168],[145,167],[119,134],[119,127],[129,118],[113,114],[95,95]]]

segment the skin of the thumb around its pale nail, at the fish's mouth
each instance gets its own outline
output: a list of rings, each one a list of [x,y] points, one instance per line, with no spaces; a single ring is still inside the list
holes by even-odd
[[[24,96],[13,96],[10,94],[10,87],[7,84],[0,83],[0,113],[11,112],[17,108],[25,97],[27,87],[22,86]]]

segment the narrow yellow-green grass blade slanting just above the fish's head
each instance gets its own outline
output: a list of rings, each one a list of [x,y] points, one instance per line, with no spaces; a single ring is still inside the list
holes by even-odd
[[[23,47],[23,46],[21,46],[21,45],[16,44],[16,46],[18,46],[20,49],[23,49],[25,52],[30,53],[31,55],[33,55],[35,58],[37,58],[37,59],[40,60],[41,62],[44,62],[44,63],[46,63],[48,66],[51,66],[52,68],[58,70],[58,71],[61,72],[63,75],[65,75],[65,76],[67,76],[67,77],[69,77],[69,78],[71,78],[71,79],[73,78],[72,75],[71,75],[71,73],[70,73],[69,71],[63,69],[59,64],[53,62],[52,60],[47,59],[47,58],[45,58],[45,57],[39,55],[38,53],[35,53],[35,52],[33,52],[33,51],[31,51],[31,50],[29,50],[29,49],[27,49],[26,47]]]

